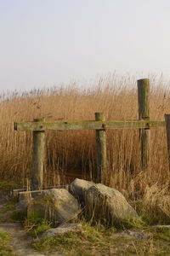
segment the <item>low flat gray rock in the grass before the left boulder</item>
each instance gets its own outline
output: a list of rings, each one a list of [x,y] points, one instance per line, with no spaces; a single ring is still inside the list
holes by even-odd
[[[65,223],[65,224],[59,225],[59,227],[57,227],[55,229],[50,229],[50,230],[45,231],[44,233],[42,233],[41,236],[39,236],[38,239],[41,239],[42,237],[46,237],[46,236],[59,236],[59,235],[63,235],[68,232],[82,232],[82,230],[83,230],[82,224],[67,224],[67,223]]]

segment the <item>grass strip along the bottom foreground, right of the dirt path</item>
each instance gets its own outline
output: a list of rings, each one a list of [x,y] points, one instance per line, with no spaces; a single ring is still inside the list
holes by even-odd
[[[156,230],[144,230],[148,238],[138,239],[119,236],[116,230],[108,230],[102,225],[91,226],[85,222],[81,224],[82,232],[43,237],[34,241],[32,246],[40,252],[51,252],[52,255],[56,250],[69,256],[170,255],[169,231],[159,233]]]

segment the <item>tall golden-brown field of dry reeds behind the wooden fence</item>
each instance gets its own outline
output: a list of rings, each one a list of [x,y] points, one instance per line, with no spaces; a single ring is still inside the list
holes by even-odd
[[[170,113],[168,84],[150,79],[150,119],[163,120]],[[92,120],[104,112],[107,120],[138,119],[137,81],[108,75],[80,89],[64,88],[10,92],[0,99],[0,177],[25,186],[31,170],[32,134],[14,131],[15,121]],[[93,179],[96,166],[94,131],[46,132],[44,187],[69,183],[74,177]],[[143,199],[170,218],[170,172],[165,128],[151,129],[151,163],[147,172],[139,165],[139,130],[107,131],[108,173],[106,184],[129,200]],[[153,216],[152,212],[152,216]]]

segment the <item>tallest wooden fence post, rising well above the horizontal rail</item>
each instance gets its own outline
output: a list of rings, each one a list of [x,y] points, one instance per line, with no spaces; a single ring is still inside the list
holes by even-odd
[[[139,120],[150,120],[150,79],[138,80]],[[150,166],[150,128],[139,129],[141,167]]]

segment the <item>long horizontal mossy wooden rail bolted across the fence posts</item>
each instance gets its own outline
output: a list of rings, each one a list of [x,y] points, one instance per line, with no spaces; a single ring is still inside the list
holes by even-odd
[[[165,127],[165,121],[124,120],[124,121],[45,121],[17,122],[15,131],[46,131],[46,130],[105,130],[125,128]]]

